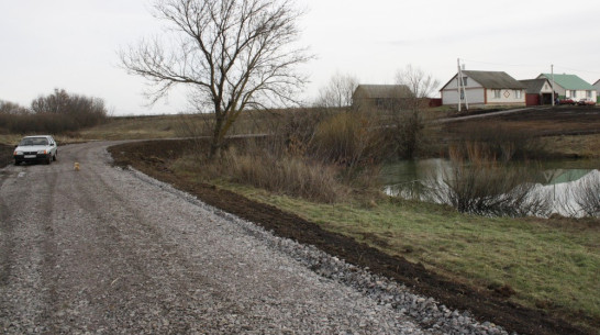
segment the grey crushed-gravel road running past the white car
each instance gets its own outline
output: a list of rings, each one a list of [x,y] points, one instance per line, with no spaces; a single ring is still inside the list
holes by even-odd
[[[108,145],[0,169],[0,333],[505,334],[112,167]]]

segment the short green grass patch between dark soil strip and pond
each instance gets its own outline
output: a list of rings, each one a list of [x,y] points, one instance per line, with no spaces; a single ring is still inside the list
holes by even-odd
[[[490,219],[393,199],[319,204],[216,183],[454,280],[509,287],[520,304],[600,317],[598,220]]]

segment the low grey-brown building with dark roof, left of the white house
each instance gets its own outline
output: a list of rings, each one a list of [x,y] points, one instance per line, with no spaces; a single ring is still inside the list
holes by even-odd
[[[359,85],[352,94],[352,103],[362,108],[393,110],[410,98],[412,92],[405,85]]]

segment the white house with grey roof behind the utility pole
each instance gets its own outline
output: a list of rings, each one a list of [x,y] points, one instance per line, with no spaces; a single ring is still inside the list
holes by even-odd
[[[525,105],[525,86],[504,71],[464,70],[465,93],[458,90],[458,74],[442,87],[443,104]]]

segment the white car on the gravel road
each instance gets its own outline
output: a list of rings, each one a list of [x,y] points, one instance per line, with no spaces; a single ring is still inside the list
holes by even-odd
[[[51,135],[26,136],[14,148],[14,165],[21,161],[44,161],[51,164],[56,160],[58,145]]]

